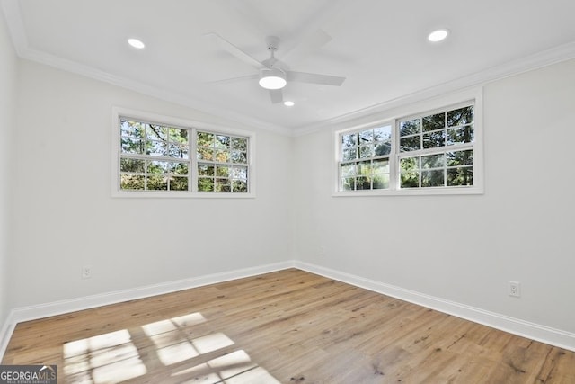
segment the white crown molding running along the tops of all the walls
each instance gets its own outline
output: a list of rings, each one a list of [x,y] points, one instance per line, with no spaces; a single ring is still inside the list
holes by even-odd
[[[122,76],[114,76],[105,71],[85,66],[75,61],[65,58],[58,58],[40,50],[31,49],[26,36],[26,31],[22,24],[22,14],[18,0],[0,0],[0,8],[4,12],[9,33],[13,40],[13,46],[16,54],[20,58],[25,58],[40,64],[56,67],[77,75],[93,78],[111,85],[117,85],[140,94],[146,94],[155,98],[176,103],[188,108],[195,109],[199,112],[224,118],[231,121],[237,121],[247,126],[269,130],[285,136],[303,136],[319,130],[332,129],[335,125],[345,124],[359,118],[366,118],[370,115],[389,111],[394,108],[417,103],[441,94],[449,94],[472,86],[485,85],[504,77],[515,76],[517,74],[534,70],[540,67],[546,67],[561,61],[575,58],[575,41],[546,49],[544,51],[526,56],[517,60],[512,60],[498,66],[490,67],[485,70],[473,73],[468,76],[462,76],[455,80],[420,89],[411,94],[405,94],[394,99],[386,100],[382,103],[376,103],[367,108],[349,112],[336,116],[334,118],[321,121],[318,123],[302,125],[296,128],[288,128],[252,116],[247,116],[240,112],[234,112],[228,109],[222,109],[213,103],[201,101],[189,95],[181,94],[161,87],[146,85],[136,80],[131,80]]]

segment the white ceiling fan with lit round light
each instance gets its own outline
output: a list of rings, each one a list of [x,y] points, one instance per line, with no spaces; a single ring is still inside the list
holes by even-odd
[[[281,89],[286,86],[288,82],[340,86],[345,80],[345,77],[340,76],[310,74],[289,70],[286,63],[280,61],[275,56],[276,51],[279,48],[279,38],[277,36],[268,36],[265,39],[268,50],[270,51],[270,58],[258,61],[228,40],[219,36],[217,33],[208,33],[208,35],[217,39],[220,47],[226,49],[227,52],[259,70],[258,74],[219,80],[214,83],[228,83],[232,81],[258,79],[258,83],[261,87],[270,91],[271,103],[283,102],[283,92]],[[323,34],[316,34],[316,36],[318,37],[316,37],[314,41],[308,42],[308,46],[323,45],[331,39],[325,32],[323,32]]]

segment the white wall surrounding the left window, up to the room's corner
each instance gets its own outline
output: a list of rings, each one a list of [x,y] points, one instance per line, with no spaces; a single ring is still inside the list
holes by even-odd
[[[26,60],[20,73],[11,308],[291,258],[292,138]],[[257,197],[111,198],[113,105],[255,130]]]

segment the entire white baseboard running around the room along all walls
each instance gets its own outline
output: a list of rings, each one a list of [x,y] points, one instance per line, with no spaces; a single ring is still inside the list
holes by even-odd
[[[4,322],[0,334],[0,361],[4,357],[4,352],[12,336],[15,326],[22,321],[29,321],[42,317],[61,315],[88,308],[102,307],[104,305],[116,304],[133,299],[143,299],[151,296],[171,293],[178,290],[188,290],[208,284],[215,284],[222,281],[231,281],[250,277],[262,273],[276,272],[288,268],[297,268],[302,271],[312,272],[333,280],[345,282],[356,287],[373,290],[396,299],[409,301],[426,308],[436,309],[456,317],[479,323],[484,326],[491,326],[510,334],[520,335],[545,344],[551,344],[575,352],[575,334],[549,326],[542,326],[527,322],[518,318],[507,317],[498,313],[474,308],[464,304],[456,303],[446,299],[429,296],[413,290],[405,290],[401,287],[385,284],[381,281],[365,279],[346,272],[340,272],[325,268],[320,265],[304,263],[291,260],[282,263],[266,264],[241,270],[220,272],[199,276],[179,281],[168,281],[165,283],[148,285],[145,287],[130,290],[118,290],[102,293],[84,298],[66,299],[46,304],[13,309]]]

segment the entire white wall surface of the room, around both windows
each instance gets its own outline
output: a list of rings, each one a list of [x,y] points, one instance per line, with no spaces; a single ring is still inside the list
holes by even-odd
[[[17,61],[0,26],[13,137],[0,141],[0,324],[11,308],[299,258],[575,333],[574,60],[485,85],[483,195],[334,198],[332,132],[257,130],[255,199],[114,199],[112,105],[251,128]]]

